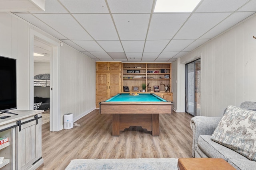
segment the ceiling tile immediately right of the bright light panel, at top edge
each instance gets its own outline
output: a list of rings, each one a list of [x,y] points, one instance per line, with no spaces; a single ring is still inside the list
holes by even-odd
[[[196,12],[234,12],[248,0],[204,0]]]

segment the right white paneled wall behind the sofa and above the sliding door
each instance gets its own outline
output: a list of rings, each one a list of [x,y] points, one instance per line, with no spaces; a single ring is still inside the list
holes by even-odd
[[[180,59],[185,64],[202,54],[201,115],[222,116],[228,105],[256,102],[255,28],[256,16]]]

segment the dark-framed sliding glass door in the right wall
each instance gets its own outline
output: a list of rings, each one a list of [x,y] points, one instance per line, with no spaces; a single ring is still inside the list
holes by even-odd
[[[186,64],[186,113],[196,116],[201,111],[201,60]]]

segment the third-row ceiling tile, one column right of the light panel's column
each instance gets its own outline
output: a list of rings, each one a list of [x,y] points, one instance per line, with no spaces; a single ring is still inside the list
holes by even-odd
[[[195,41],[194,39],[184,39],[184,40],[172,40],[167,47],[164,49],[163,52],[176,52],[182,51],[186,48],[190,43]]]

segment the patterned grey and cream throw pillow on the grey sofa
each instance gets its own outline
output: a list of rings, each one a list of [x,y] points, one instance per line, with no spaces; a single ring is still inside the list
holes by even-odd
[[[256,161],[256,111],[228,106],[212,140]]]

